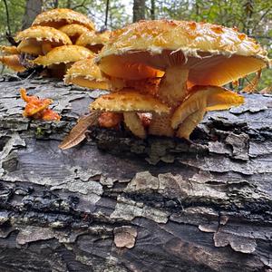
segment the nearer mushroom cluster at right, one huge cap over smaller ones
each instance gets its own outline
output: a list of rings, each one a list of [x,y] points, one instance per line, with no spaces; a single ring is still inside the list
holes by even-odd
[[[222,86],[269,63],[267,52],[236,29],[167,20],[115,31],[96,60],[112,92],[92,102],[91,110],[122,114],[126,127],[141,138],[186,139],[205,112],[244,102]]]

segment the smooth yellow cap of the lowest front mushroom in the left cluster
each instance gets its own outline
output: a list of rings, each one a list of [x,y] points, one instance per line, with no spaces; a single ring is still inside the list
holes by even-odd
[[[94,54],[83,46],[63,45],[53,48],[53,50],[46,55],[40,55],[34,59],[33,63],[44,66],[60,63],[75,63],[93,56]]]

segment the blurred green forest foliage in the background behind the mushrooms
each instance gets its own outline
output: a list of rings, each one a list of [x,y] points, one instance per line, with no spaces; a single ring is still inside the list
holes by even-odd
[[[0,0],[0,44],[8,44],[5,33],[15,34],[22,28],[27,0]],[[117,29],[132,21],[132,7],[137,1],[110,0],[107,27]],[[139,1],[138,1],[139,2]],[[264,0],[146,0],[146,19],[178,19],[206,21],[236,26],[238,30],[257,39],[272,58],[272,1]],[[105,23],[107,0],[49,0],[43,9],[69,7],[89,15],[100,29]],[[9,20],[7,20],[6,6]],[[9,21],[9,22],[8,22]],[[272,70],[262,74],[259,89],[272,86]]]

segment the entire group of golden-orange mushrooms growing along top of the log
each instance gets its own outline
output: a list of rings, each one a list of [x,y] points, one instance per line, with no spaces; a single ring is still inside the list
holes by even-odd
[[[206,112],[244,102],[227,83],[269,65],[261,45],[235,28],[153,20],[98,33],[88,17],[69,9],[38,15],[15,41],[17,47],[0,48],[2,63],[15,71],[43,65],[67,84],[108,90],[90,105],[98,124],[124,125],[142,139],[189,139]]]

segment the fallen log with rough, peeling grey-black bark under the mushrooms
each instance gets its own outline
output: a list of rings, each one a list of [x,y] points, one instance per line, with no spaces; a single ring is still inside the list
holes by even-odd
[[[23,118],[22,86],[63,120]],[[60,151],[99,92],[0,90],[0,271],[271,271],[271,96],[210,113],[192,142],[92,129]]]

